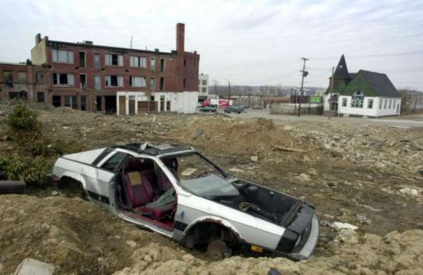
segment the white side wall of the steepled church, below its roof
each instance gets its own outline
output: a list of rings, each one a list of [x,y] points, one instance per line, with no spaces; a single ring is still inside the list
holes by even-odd
[[[347,99],[346,106],[342,106],[343,98]],[[367,107],[369,99],[373,99],[373,107],[371,109],[369,109]],[[399,98],[399,97],[394,98],[394,97],[365,96],[362,108],[351,107],[351,100],[352,100],[352,96],[347,96],[347,95],[340,95],[339,96],[339,98],[338,98],[338,113],[339,114],[362,115],[362,116],[372,116],[372,117],[386,116],[386,115],[397,115],[397,114],[399,114],[399,113],[397,113],[397,104],[400,104],[400,106],[401,106],[401,98]],[[382,100],[382,108],[381,109],[379,108],[380,100]],[[384,108],[385,100],[388,100],[386,109]],[[389,100],[391,100],[391,108],[390,109],[389,109]],[[395,107],[394,107],[394,101],[395,101]]]

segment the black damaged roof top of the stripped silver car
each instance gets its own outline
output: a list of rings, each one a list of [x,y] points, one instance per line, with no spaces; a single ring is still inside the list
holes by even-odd
[[[157,156],[167,153],[174,153],[180,151],[193,150],[192,147],[184,146],[175,143],[163,143],[163,144],[152,144],[152,143],[128,143],[126,145],[116,145],[113,148],[121,148],[128,151],[132,151],[138,154],[145,154],[150,156]]]

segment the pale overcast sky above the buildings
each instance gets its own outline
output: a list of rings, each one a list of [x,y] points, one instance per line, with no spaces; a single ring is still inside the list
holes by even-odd
[[[397,88],[423,91],[422,0],[0,0],[0,61],[30,58],[34,37],[161,51],[186,51],[200,72],[233,85],[295,85],[301,57],[306,86],[327,87],[345,54],[350,72],[386,73]],[[6,8],[7,7],[7,8]]]

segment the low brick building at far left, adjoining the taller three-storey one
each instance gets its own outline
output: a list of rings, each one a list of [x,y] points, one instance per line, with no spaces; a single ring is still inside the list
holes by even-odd
[[[42,66],[26,63],[0,63],[0,99],[24,98],[46,102],[48,84]]]

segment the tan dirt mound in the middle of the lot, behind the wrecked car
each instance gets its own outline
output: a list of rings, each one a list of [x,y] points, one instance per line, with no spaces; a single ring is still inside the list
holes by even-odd
[[[178,133],[179,141],[192,145],[213,145],[213,150],[233,155],[267,154],[275,146],[310,150],[310,143],[294,138],[276,127],[272,120],[259,118],[239,121],[224,116],[204,116],[192,119]]]

